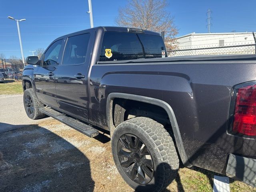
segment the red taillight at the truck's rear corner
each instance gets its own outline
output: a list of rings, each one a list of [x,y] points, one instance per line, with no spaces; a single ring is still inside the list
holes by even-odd
[[[238,88],[232,132],[256,136],[256,85]]]

